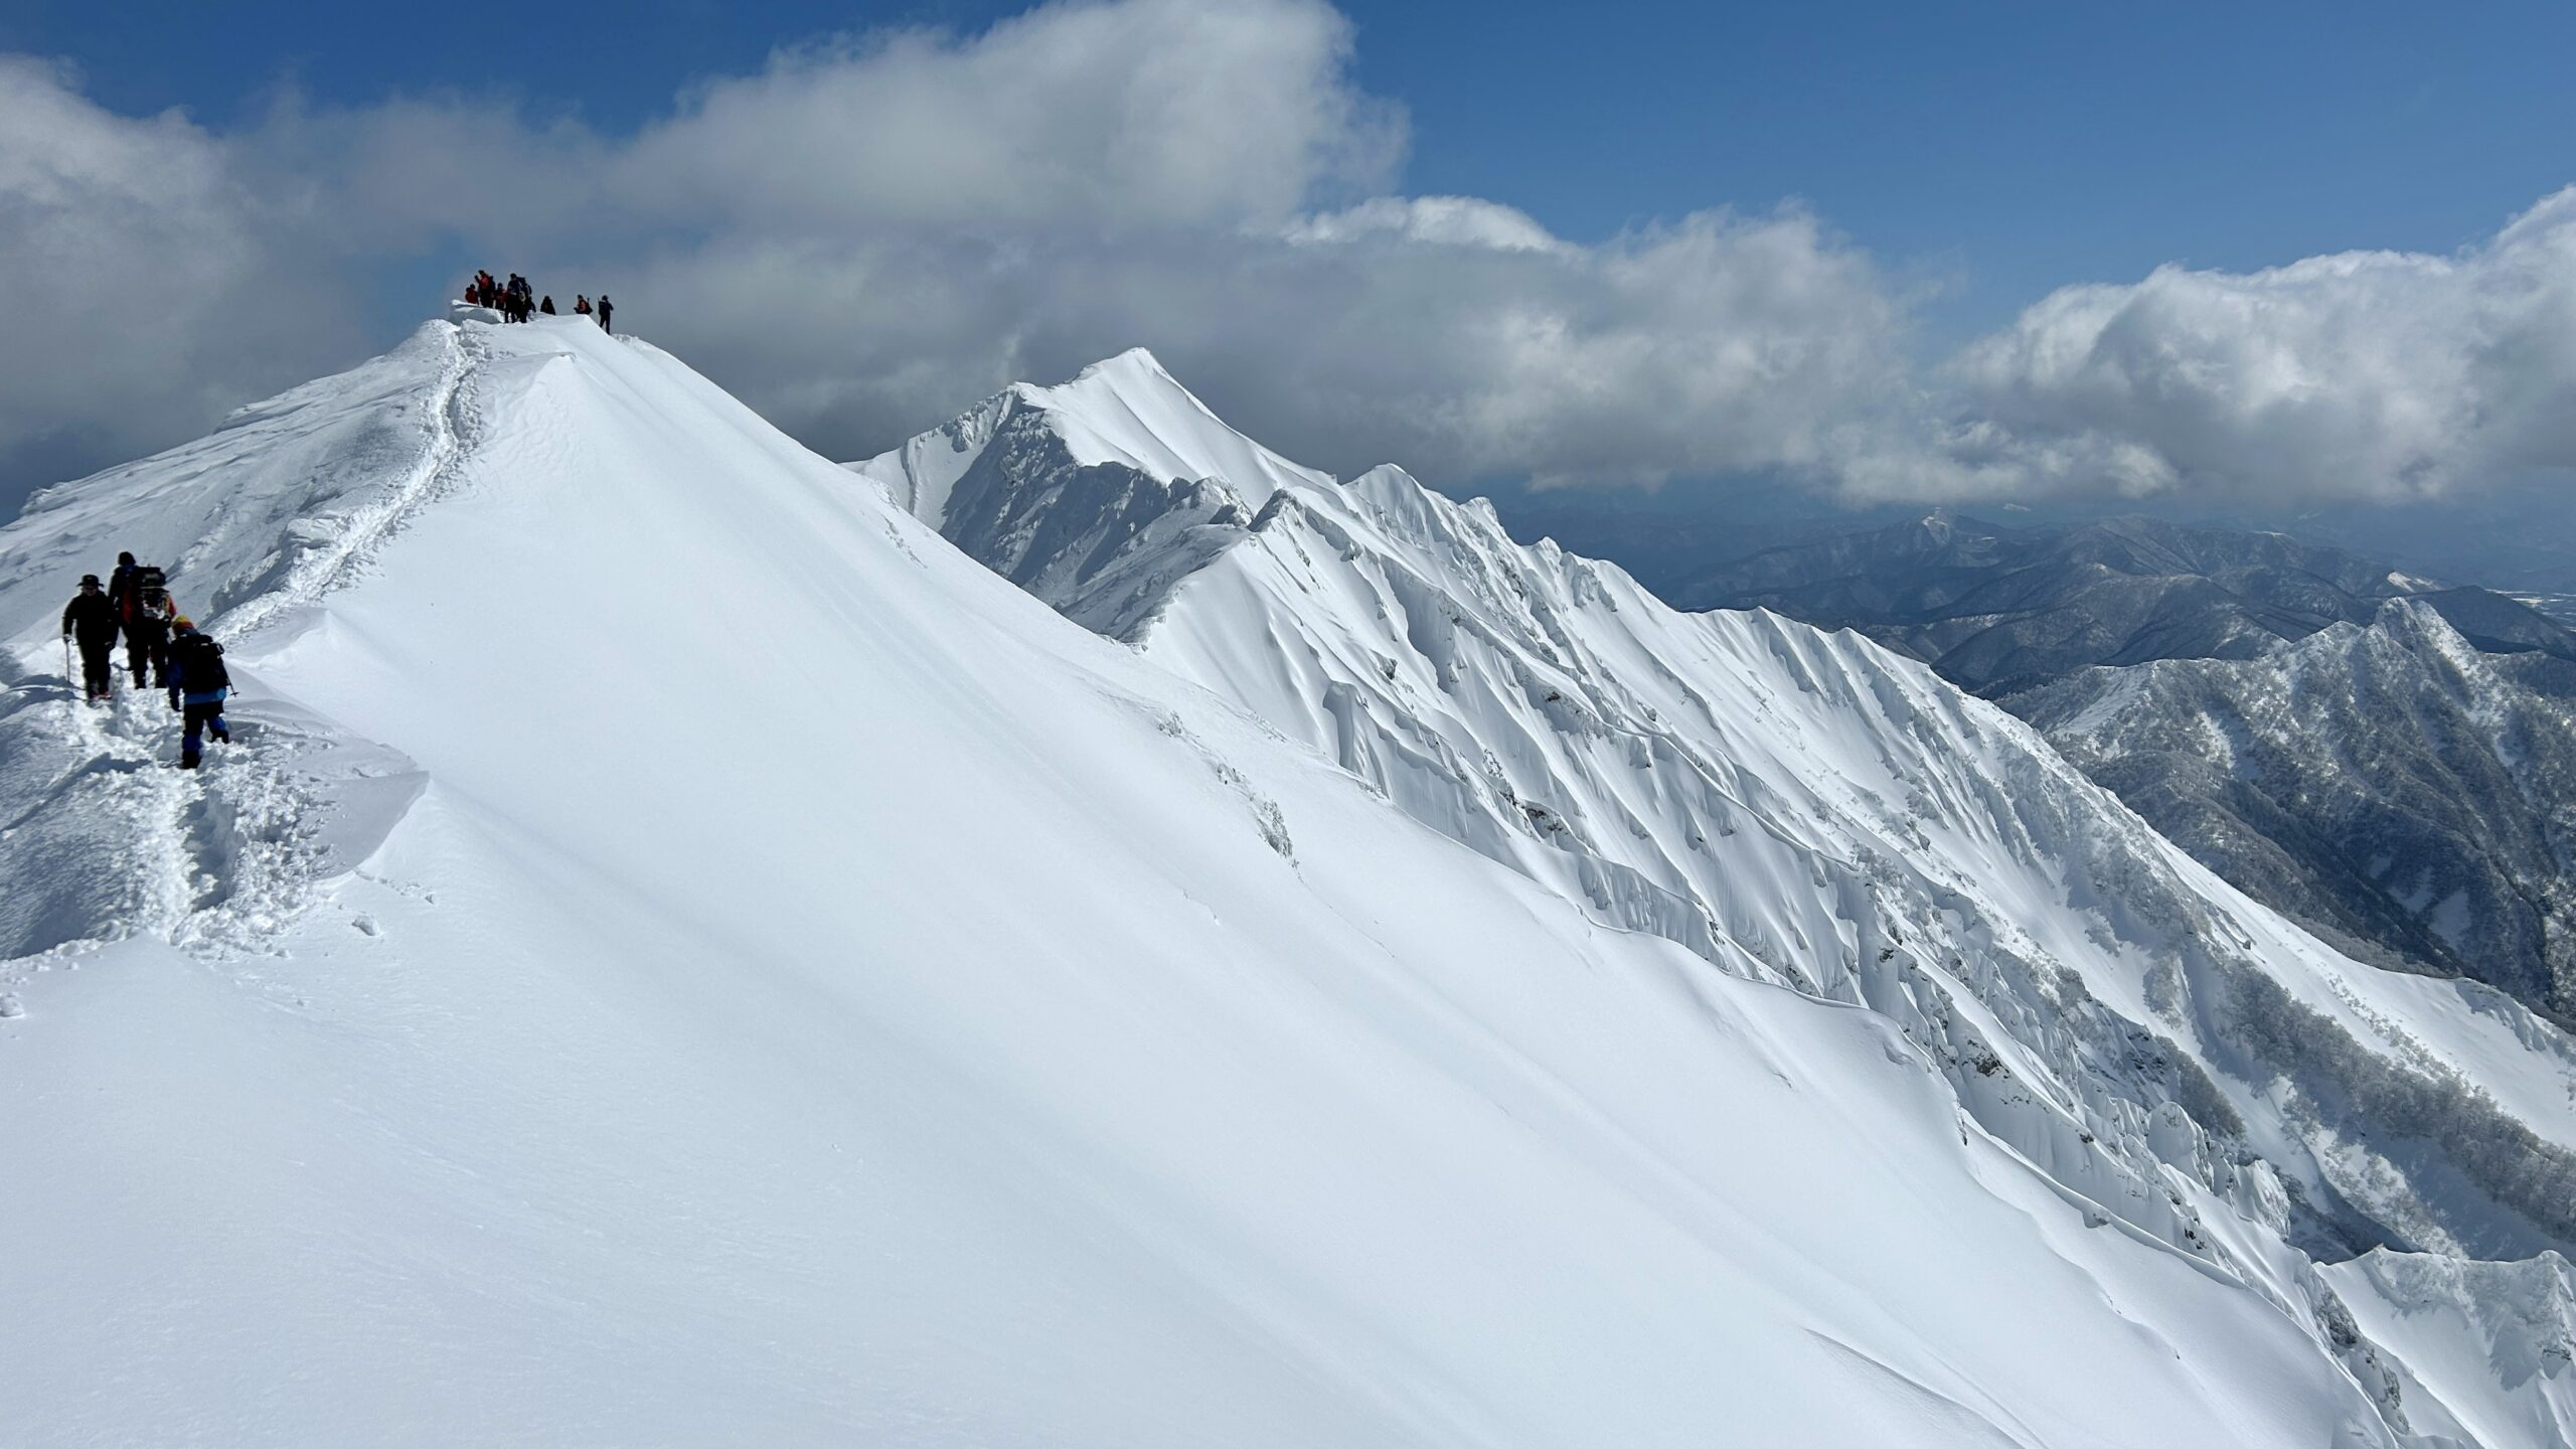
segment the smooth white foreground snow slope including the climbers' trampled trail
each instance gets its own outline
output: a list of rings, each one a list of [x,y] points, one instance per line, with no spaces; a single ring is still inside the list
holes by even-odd
[[[204,776],[52,673],[118,541],[232,642]],[[433,325],[0,557],[8,820],[149,887],[0,967],[5,1441],[2401,1441],[2313,1276],[2125,1230],[1888,1021],[1425,830],[647,343]]]

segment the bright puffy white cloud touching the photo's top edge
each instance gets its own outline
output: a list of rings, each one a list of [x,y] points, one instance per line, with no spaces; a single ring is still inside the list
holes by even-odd
[[[1321,0],[1046,5],[956,41],[876,34],[696,88],[616,193],[747,229],[1108,229],[1283,219],[1383,186],[1401,113],[1342,77]]]

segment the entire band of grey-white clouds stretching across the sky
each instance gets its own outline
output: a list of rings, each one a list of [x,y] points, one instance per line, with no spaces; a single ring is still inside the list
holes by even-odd
[[[459,95],[211,131],[0,62],[0,266],[52,278],[0,495],[355,361],[363,284],[425,253],[605,289],[835,456],[1136,343],[1293,456],[1435,482],[2406,495],[2576,454],[2576,193],[2452,258],[2069,289],[1922,369],[1914,299],[1795,204],[1574,242],[1404,196],[1350,59],[1324,0],[1059,0],[783,49],[631,134]]]

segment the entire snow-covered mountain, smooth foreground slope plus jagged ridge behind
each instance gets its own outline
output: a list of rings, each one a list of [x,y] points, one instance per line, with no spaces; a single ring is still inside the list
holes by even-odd
[[[2561,1036],[1118,366],[876,469],[1115,639],[582,320],[0,529],[0,1444],[2563,1431]],[[201,773],[59,676],[118,547],[229,647]]]

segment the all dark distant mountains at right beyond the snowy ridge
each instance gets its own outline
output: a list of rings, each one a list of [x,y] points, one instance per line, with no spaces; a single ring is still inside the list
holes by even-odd
[[[2576,1021],[2576,632],[2522,598],[2282,534],[1947,511],[1672,590],[1914,655],[2344,949]]]

